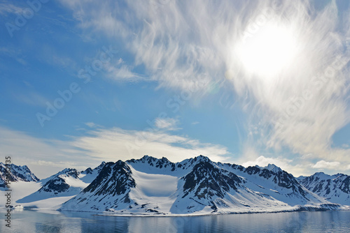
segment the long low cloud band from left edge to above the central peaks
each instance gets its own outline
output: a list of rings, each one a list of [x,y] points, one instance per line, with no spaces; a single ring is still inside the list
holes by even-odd
[[[95,127],[94,123],[87,123]],[[144,155],[177,162],[200,154],[215,161],[225,161],[230,154],[225,146],[202,143],[188,137],[160,131],[148,132],[120,128],[87,131],[69,140],[45,140],[0,126],[0,157],[11,156],[16,165],[28,165],[43,179],[66,167],[84,170],[102,160],[117,161]]]

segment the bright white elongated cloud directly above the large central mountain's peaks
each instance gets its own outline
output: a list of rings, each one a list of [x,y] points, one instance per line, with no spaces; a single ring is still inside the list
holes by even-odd
[[[208,156],[212,160],[225,160],[229,152],[225,146],[207,144],[188,137],[162,132],[123,130],[111,128],[90,132],[91,136],[77,137],[72,146],[85,149],[87,155],[103,160],[127,160],[144,155],[177,162],[186,158]]]

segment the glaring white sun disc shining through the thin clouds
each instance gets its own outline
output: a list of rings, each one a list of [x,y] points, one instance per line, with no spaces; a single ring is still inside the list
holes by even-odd
[[[272,78],[290,67],[297,54],[295,33],[285,25],[270,23],[245,32],[246,38],[237,44],[235,55],[246,73]]]

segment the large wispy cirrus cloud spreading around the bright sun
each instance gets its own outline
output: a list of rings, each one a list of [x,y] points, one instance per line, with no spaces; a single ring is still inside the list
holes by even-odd
[[[346,149],[331,146],[332,135],[349,123],[350,22],[339,17],[349,9],[336,1],[322,7],[301,0],[128,1],[127,10],[118,10],[115,1],[62,3],[84,33],[123,40],[132,66],[144,66],[160,87],[194,86],[206,94],[207,87],[196,85],[204,82],[235,92],[251,116],[246,130],[258,126],[259,135],[248,136],[247,146],[349,163]],[[290,44],[278,31],[290,35]],[[239,52],[244,43],[256,45],[247,54],[260,59],[251,69]],[[286,50],[289,45],[293,51]],[[286,59],[283,51],[293,56]]]

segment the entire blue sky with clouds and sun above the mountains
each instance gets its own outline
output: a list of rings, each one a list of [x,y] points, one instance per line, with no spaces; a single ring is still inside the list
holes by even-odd
[[[350,174],[349,1],[0,1],[0,161]]]

